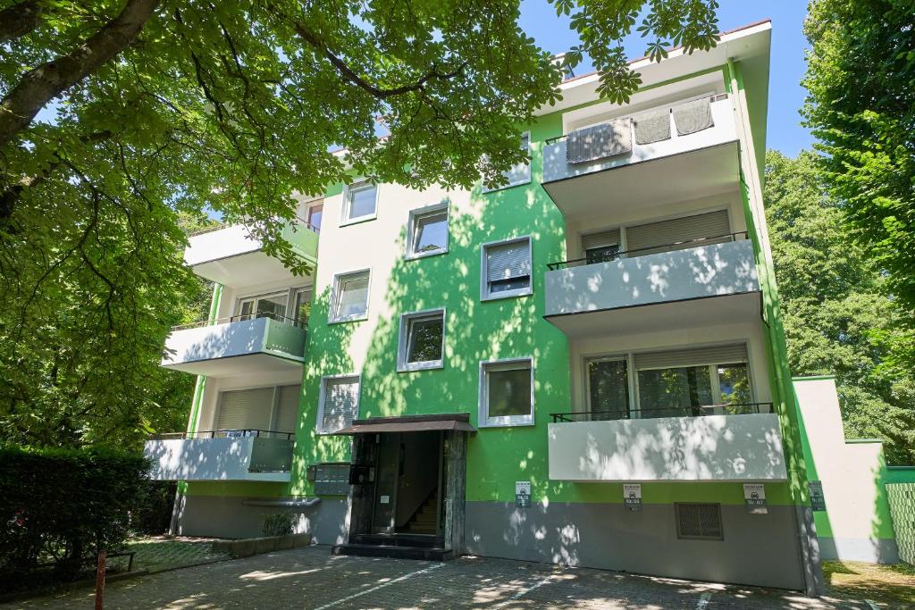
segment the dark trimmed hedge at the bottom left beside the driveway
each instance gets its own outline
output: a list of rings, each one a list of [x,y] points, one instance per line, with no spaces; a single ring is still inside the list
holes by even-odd
[[[0,447],[0,591],[71,581],[119,548],[147,469],[113,450]]]

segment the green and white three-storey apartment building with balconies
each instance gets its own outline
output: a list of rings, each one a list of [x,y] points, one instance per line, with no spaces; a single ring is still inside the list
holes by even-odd
[[[199,376],[188,433],[146,445],[184,482],[175,530],[286,511],[338,553],[813,592],[761,199],[769,55],[765,22],[638,60],[622,106],[570,78],[498,189],[303,199],[312,276],[243,227],[191,238],[210,319],[163,361]]]

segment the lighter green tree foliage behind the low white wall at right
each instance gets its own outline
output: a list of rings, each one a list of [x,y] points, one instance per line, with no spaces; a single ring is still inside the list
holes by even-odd
[[[915,373],[887,366],[906,331],[818,157],[770,151],[766,206],[791,371],[834,374],[848,437],[883,438],[889,463],[915,463]]]

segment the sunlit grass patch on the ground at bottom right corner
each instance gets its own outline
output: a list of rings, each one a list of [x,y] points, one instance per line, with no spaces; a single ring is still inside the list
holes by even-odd
[[[898,608],[915,606],[915,568],[906,563],[823,562],[831,594]]]

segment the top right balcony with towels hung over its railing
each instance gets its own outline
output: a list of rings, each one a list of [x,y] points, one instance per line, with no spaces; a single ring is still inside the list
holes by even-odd
[[[711,125],[680,135],[669,111],[668,137],[639,144],[632,117],[610,122],[618,145],[606,137],[593,144],[588,160],[569,155],[568,135],[544,146],[544,189],[566,219],[609,216],[620,209],[647,209],[684,198],[700,198],[739,186],[737,129],[727,94],[709,100]],[[606,123],[606,124],[610,124]],[[594,129],[594,128],[586,128]],[[585,129],[573,134],[582,134]],[[660,137],[660,136],[655,136]],[[585,146],[589,144],[584,144]]]

